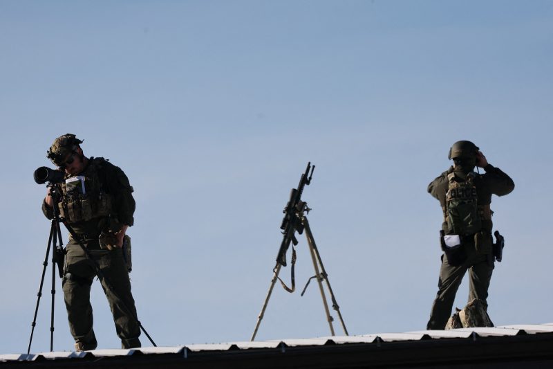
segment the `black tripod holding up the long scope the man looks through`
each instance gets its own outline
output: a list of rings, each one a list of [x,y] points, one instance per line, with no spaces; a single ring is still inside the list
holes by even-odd
[[[57,190],[51,183],[50,194],[53,198],[56,198]],[[52,219],[52,225],[50,226],[50,237],[48,237],[48,246],[46,247],[46,255],[44,256],[44,262],[42,263],[42,277],[40,279],[39,292],[37,294],[37,306],[35,307],[35,316],[32,319],[32,329],[30,331],[29,346],[27,348],[27,354],[30,353],[30,345],[32,343],[32,335],[35,333],[35,326],[37,325],[37,314],[39,312],[40,298],[42,297],[42,287],[44,286],[44,277],[46,276],[46,267],[48,267],[48,256],[50,255],[50,249],[52,250],[52,307],[50,315],[50,352],[54,350],[54,308],[55,308],[55,294],[56,294],[56,271],[55,265],[57,264],[59,278],[63,276],[63,255],[64,255],[64,242],[62,241],[62,231],[59,228],[59,217],[57,215],[57,207],[53,206],[54,217]],[[58,243],[59,242],[59,243]]]

